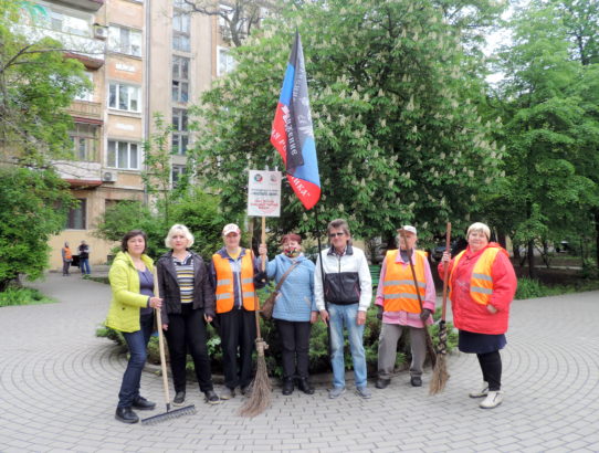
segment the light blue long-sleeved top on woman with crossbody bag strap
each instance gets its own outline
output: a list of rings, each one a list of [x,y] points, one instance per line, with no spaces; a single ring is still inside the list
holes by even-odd
[[[304,255],[296,257],[300,261],[285,278],[276,303],[273,318],[291,322],[309,320],[311,312],[316,312],[314,299],[314,263]],[[284,254],[276,255],[266,265],[269,278],[279,283],[283,274],[292,266],[293,261]]]

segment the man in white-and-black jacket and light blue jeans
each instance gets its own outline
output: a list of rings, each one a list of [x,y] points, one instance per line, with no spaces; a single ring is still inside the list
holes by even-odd
[[[325,323],[330,323],[330,361],[333,388],[329,398],[345,392],[344,325],[347,328],[356,392],[370,398],[366,382],[364,325],[372,298],[372,280],[368,262],[360,249],[350,243],[347,222],[337,219],[328,224],[330,249],[320,252],[314,273],[316,307]],[[324,275],[323,275],[324,274]]]

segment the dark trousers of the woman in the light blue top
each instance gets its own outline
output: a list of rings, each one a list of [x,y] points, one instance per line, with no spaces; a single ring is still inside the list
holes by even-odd
[[[308,377],[309,322],[276,319],[283,349],[283,379]]]

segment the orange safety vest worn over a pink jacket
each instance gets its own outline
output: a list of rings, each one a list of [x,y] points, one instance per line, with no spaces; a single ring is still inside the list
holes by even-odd
[[[382,282],[382,307],[385,312],[420,313],[420,303],[416,292],[414,281],[410,265],[397,263],[398,250],[390,250],[385,256],[387,267]],[[427,254],[420,250],[414,255],[414,274],[418,282],[420,297],[424,298],[427,278],[424,276],[424,260]]]

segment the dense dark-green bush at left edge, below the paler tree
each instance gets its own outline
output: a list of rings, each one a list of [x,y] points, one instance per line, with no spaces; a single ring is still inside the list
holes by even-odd
[[[73,198],[52,170],[0,168],[0,291],[19,274],[49,267],[52,234],[64,228]]]

